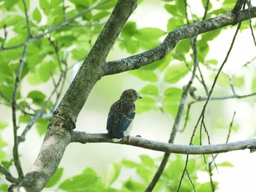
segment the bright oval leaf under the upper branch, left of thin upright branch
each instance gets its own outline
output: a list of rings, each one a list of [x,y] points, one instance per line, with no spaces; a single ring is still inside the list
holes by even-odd
[[[176,83],[185,77],[189,72],[184,64],[174,64],[165,72],[165,82]]]

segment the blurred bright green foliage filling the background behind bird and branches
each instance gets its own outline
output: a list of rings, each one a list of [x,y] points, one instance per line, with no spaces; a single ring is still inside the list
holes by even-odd
[[[13,157],[11,153],[12,139],[10,139],[12,138],[10,107],[15,88],[15,77],[18,73],[20,60],[22,59],[24,45],[28,45],[28,47],[26,56],[24,57],[25,64],[20,76],[20,86],[18,88],[18,126],[20,130],[26,127],[28,123],[31,122],[33,115],[41,110],[42,114],[37,118],[37,121],[31,128],[31,132],[33,133],[33,130],[37,130],[36,132],[40,136],[38,138],[42,139],[46,132],[50,115],[56,105],[58,105],[61,96],[72,81],[75,73],[78,71],[80,64],[89,53],[99,32],[102,30],[106,20],[108,20],[111,10],[116,4],[116,0],[106,2],[102,0],[24,1],[26,2],[26,9],[28,10],[29,23],[26,23],[23,1],[0,1],[0,131],[2,136],[0,137],[0,161],[1,165],[10,170],[10,172],[13,172]],[[139,1],[138,3],[138,9],[135,10],[135,17],[131,18],[121,31],[115,47],[113,47],[113,50],[108,56],[109,61],[124,58],[156,47],[161,43],[168,32],[178,27],[186,26],[188,23],[202,20],[202,13],[206,6],[206,0],[197,1],[196,3],[187,1],[189,6],[191,6],[187,7],[191,12],[188,16],[185,1],[162,0]],[[230,11],[235,3],[236,1],[227,0],[208,2],[206,18],[213,18]],[[142,18],[140,17],[143,17],[143,15],[139,15],[139,12],[142,11],[142,9],[147,9],[148,4],[152,4],[154,9],[156,9],[156,12],[148,12],[148,14],[154,15],[154,13],[156,13],[155,17],[157,17],[157,12],[165,12],[165,20],[157,19],[159,23],[163,23],[164,27],[155,27],[153,23],[151,26],[142,27],[140,23]],[[196,11],[194,7],[197,7]],[[80,12],[84,13],[80,14]],[[255,22],[252,23],[252,27],[255,29]],[[218,55],[214,53],[214,43],[212,42],[218,39],[221,34],[225,34],[225,31],[228,31],[228,33],[230,33],[228,35],[232,37],[232,28],[233,26],[228,26],[206,34],[201,34],[197,37],[199,66],[208,88],[211,87],[214,77],[217,74],[217,69],[220,64],[222,64],[222,59],[225,57],[225,51],[227,51],[227,49],[223,47],[229,46],[229,42],[227,41],[222,41],[222,45],[215,46],[215,49],[222,50],[223,54]],[[240,33],[243,34],[245,33],[244,31],[248,31],[248,29],[249,21],[245,21],[242,23]],[[227,37],[227,35],[225,37]],[[250,42],[252,42],[252,40]],[[246,45],[241,45],[241,47],[242,46],[246,49]],[[86,124],[84,120],[78,119],[78,130],[81,128],[81,130],[89,132],[105,131],[105,128],[102,128],[102,125],[105,125],[105,120],[102,120],[102,116],[107,117],[110,104],[118,99],[118,95],[125,88],[134,87],[144,96],[143,99],[137,102],[137,114],[141,115],[137,115],[135,120],[141,117],[143,120],[140,121],[140,126],[146,126],[145,122],[149,118],[155,117],[156,114],[157,117],[164,116],[164,120],[168,121],[164,122],[166,128],[162,135],[165,135],[166,138],[158,139],[164,142],[167,141],[168,135],[170,134],[170,125],[173,123],[173,118],[175,118],[177,114],[182,87],[187,84],[192,74],[192,66],[193,54],[190,40],[184,39],[161,61],[143,66],[138,70],[102,78],[95,86],[89,101],[86,103],[85,108],[87,111],[80,115],[88,117],[87,120],[89,120],[90,123]],[[197,75],[197,80],[193,84],[198,92],[195,93],[206,96],[207,89],[204,88],[201,83],[200,74]],[[246,56],[246,61],[237,61],[237,64],[232,64],[230,67],[227,67],[227,69],[220,74],[219,80],[217,80],[217,88],[216,91],[214,91],[214,96],[223,98],[230,95],[234,96],[232,88],[236,89],[238,95],[246,95],[256,91],[255,55],[251,57]],[[191,101],[193,100],[189,98],[189,102]],[[254,101],[254,97],[249,97],[243,102],[246,102],[249,106],[253,105],[253,108]],[[196,107],[189,114],[189,117],[187,117],[187,108],[183,114],[183,118],[188,118],[189,123],[191,123],[190,125],[195,123],[197,113],[201,110],[200,103],[195,105]],[[213,107],[213,111],[216,112],[214,112],[214,114],[208,114],[208,120],[210,121],[208,126],[212,128],[213,137],[214,133],[219,134],[218,131],[214,132],[213,130],[218,130],[219,128],[222,129],[222,133],[223,130],[225,131],[225,134],[222,134],[222,137],[220,137],[222,142],[225,140],[223,138],[227,136],[227,128],[231,120],[230,116],[233,114],[233,108],[228,108],[228,105],[230,104],[222,103],[222,101],[218,103],[213,101],[210,107]],[[102,107],[104,107],[105,110],[102,110]],[[98,112],[99,110],[101,111]],[[97,121],[97,115],[91,115],[89,111],[91,113],[97,113],[97,118],[100,122],[103,122],[99,124],[99,130],[94,128],[98,126],[98,124],[94,124],[95,121]],[[228,115],[224,118],[219,117],[225,112],[227,112]],[[143,114],[146,115],[143,116]],[[161,123],[160,121],[161,120],[159,120],[159,123]],[[144,125],[141,122],[143,122]],[[234,124],[232,131],[238,131],[239,128],[241,128],[239,121]],[[155,125],[157,125],[157,123]],[[161,125],[159,125],[159,127],[160,126]],[[255,128],[253,125],[252,127]],[[154,129],[157,131],[161,128],[154,127]],[[145,130],[142,131],[144,131],[144,135],[148,133]],[[181,139],[181,142],[185,141],[188,143],[187,140],[189,139],[189,135],[191,135],[191,130],[186,129],[186,131],[184,131],[180,137],[186,135],[187,139]],[[154,134],[154,131],[150,132]],[[19,133],[21,134],[22,131]],[[253,131],[249,133],[252,135]],[[26,138],[26,142],[31,139],[29,136],[30,135]],[[206,136],[200,135],[200,137],[205,138]],[[194,142],[199,144],[199,141],[199,136],[196,136]],[[28,142],[28,145],[34,142],[37,142],[37,140]],[[40,143],[41,142],[37,145],[40,145]],[[25,151],[28,145],[21,147],[20,150]],[[99,146],[102,147],[102,145]],[[72,145],[71,147],[73,147],[72,150],[76,150],[75,146]],[[117,147],[111,149],[108,146],[108,150],[112,152],[108,151],[107,153],[113,155]],[[93,147],[89,148],[91,151],[94,150]],[[34,153],[37,154],[37,151]],[[69,150],[67,151],[67,154],[69,154]],[[137,158],[132,158],[132,160],[129,156],[124,155],[124,153],[125,151],[123,150],[122,153],[119,154],[121,157],[118,156],[121,160],[115,159],[115,162],[110,165],[105,164],[103,167],[99,166],[98,169],[103,169],[103,173],[101,172],[99,174],[97,173],[97,168],[94,170],[89,168],[87,164],[83,164],[83,167],[81,167],[80,163],[78,164],[80,171],[76,172],[75,176],[70,174],[64,175],[65,170],[68,172],[68,165],[63,163],[46,186],[46,190],[144,191],[159,166],[160,158],[157,157],[159,153],[157,153],[157,155],[140,153],[140,155],[136,155]],[[20,155],[23,156],[23,158],[21,158],[23,161],[29,158],[29,155],[26,157],[25,152],[24,154],[20,152]],[[90,156],[92,160],[89,158],[88,161],[94,161],[94,159],[100,158],[100,154],[94,156],[94,153],[91,153]],[[125,156],[127,156],[127,158],[125,158]],[[86,158],[86,153],[84,158]],[[189,177],[184,177],[180,191],[211,191],[211,183],[209,180],[203,183],[198,180],[200,173],[203,172],[207,175],[208,168],[206,168],[206,166],[207,162],[211,161],[211,158],[211,155],[206,155],[204,158],[199,156],[189,158],[187,166],[187,172],[189,173],[187,175],[189,175]],[[31,159],[31,161],[33,161],[33,158]],[[177,190],[178,183],[181,180],[181,174],[184,172],[185,160],[186,158],[183,155],[171,155],[167,168],[161,180],[157,183],[155,191]],[[102,161],[104,161],[104,158],[97,160],[97,163],[103,164]],[[110,159],[110,161],[112,160]],[[67,160],[63,162],[67,162]],[[27,169],[29,169],[29,166],[30,165],[27,165]],[[217,167],[219,166],[230,167],[232,164],[224,161],[224,163],[217,163]],[[216,169],[216,166],[213,166],[212,169]],[[126,175],[126,179],[124,180],[122,179],[123,174],[129,174],[130,176],[127,177]],[[4,179],[3,174],[0,173],[0,177],[0,191],[6,191],[9,183]],[[216,181],[214,185],[217,188],[219,184]]]

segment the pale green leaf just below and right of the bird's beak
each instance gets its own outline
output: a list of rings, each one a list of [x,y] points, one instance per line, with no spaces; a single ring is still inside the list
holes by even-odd
[[[151,97],[143,97],[136,102],[136,112],[139,114],[141,112],[147,112],[149,110],[154,110],[157,106],[157,102]]]

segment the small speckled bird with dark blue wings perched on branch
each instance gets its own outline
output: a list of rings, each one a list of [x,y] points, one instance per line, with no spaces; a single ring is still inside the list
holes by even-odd
[[[135,101],[143,98],[134,89],[130,88],[121,93],[120,99],[112,104],[108,113],[108,137],[118,142],[128,138],[132,129],[132,120],[135,118]]]

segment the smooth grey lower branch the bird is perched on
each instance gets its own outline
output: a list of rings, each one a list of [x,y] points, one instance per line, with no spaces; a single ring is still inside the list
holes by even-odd
[[[113,142],[108,138],[107,134],[87,134],[85,132],[74,131],[71,134],[71,142]],[[256,139],[247,139],[238,142],[229,142],[217,145],[176,145],[165,142],[155,142],[140,137],[129,137],[118,142],[123,145],[132,145],[135,147],[142,147],[148,150],[157,150],[167,153],[179,154],[213,154],[213,153],[226,153],[233,150],[254,150],[256,148]]]

